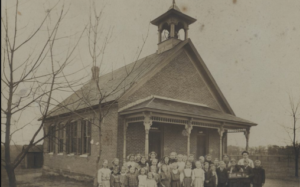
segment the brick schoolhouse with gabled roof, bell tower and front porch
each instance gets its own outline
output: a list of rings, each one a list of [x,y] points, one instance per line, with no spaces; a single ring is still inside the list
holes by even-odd
[[[151,22],[159,31],[154,54],[100,77],[99,68],[92,68],[92,79],[47,119],[46,173],[83,179],[95,175],[99,88],[102,94],[111,93],[101,102],[101,111],[107,113],[101,159],[125,161],[128,154],[150,151],[158,157],[176,151],[219,158],[232,132],[244,133],[248,147],[250,128],[256,124],[235,116],[188,38],[195,21],[173,4]]]

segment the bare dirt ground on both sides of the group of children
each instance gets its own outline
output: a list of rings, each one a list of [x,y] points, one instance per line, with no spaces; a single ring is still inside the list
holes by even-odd
[[[63,177],[44,177],[41,170],[23,170],[16,172],[19,187],[92,187],[92,183],[83,183]],[[300,187],[296,179],[267,179],[264,187]]]

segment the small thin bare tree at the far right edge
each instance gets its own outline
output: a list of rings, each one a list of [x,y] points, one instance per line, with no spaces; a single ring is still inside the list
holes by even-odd
[[[298,127],[297,121],[299,119],[299,106],[300,106],[300,101],[295,102],[293,97],[289,96],[289,101],[290,101],[290,110],[289,114],[292,117],[292,124],[289,126],[283,126],[285,131],[287,132],[289,138],[290,138],[290,143],[292,144],[293,151],[294,151],[294,156],[295,156],[295,177],[299,177],[299,156],[300,156],[300,141],[298,138]]]

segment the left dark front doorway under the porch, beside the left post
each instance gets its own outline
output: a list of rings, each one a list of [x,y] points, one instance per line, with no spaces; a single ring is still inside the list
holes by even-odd
[[[161,158],[161,132],[150,130],[149,132],[149,153],[152,151],[157,153],[157,158]]]

